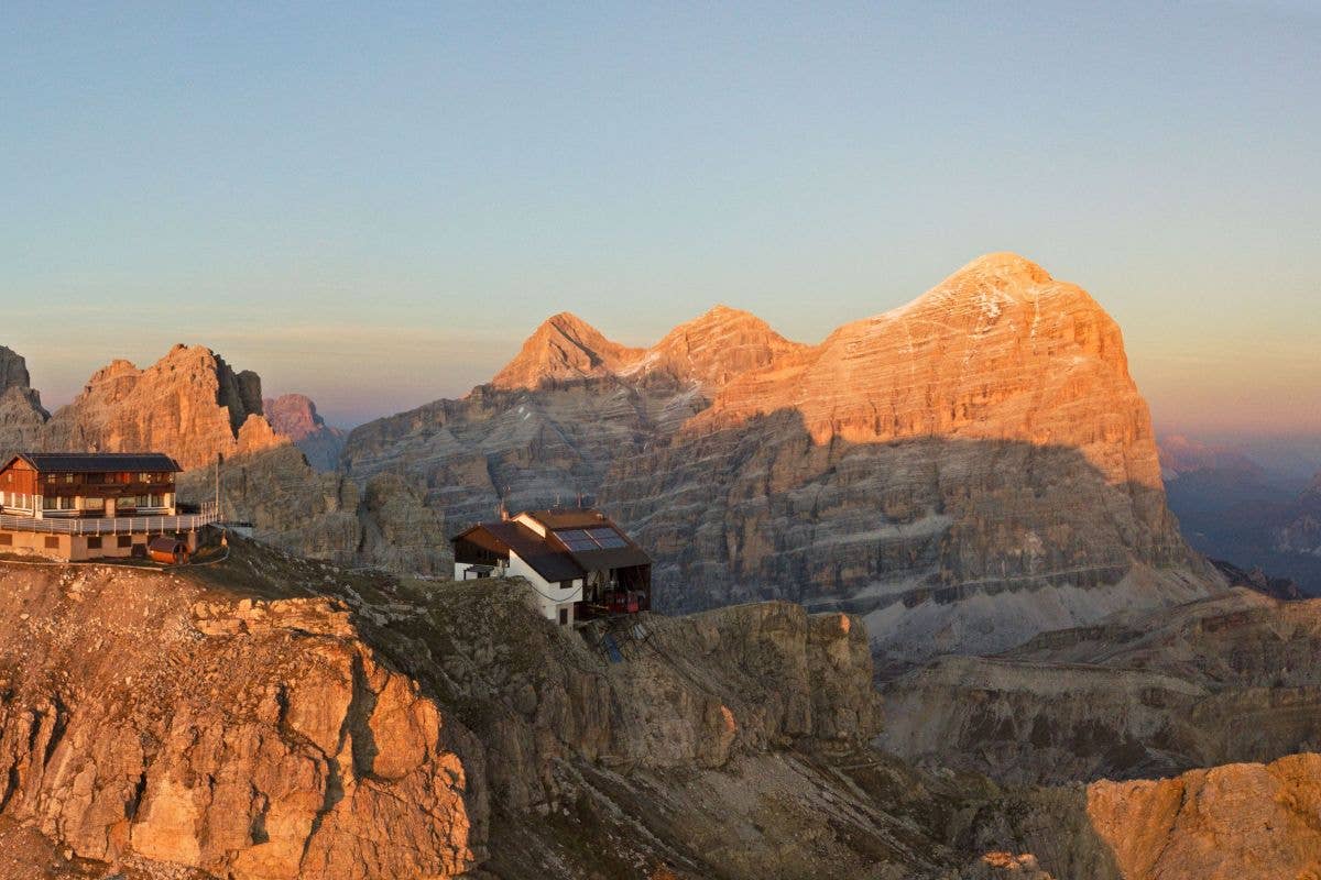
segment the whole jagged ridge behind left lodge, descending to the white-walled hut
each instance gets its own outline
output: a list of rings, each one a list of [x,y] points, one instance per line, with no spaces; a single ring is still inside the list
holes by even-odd
[[[8,352],[8,350],[3,350]],[[184,466],[180,497],[210,500],[215,462],[227,519],[258,537],[349,566],[448,571],[444,520],[391,475],[353,482],[334,472],[342,435],[301,394],[262,398],[262,380],[201,346],[176,346],[139,369],[116,360],[49,416],[21,358],[0,354],[0,451],[160,450]],[[316,459],[329,471],[310,466]]]

